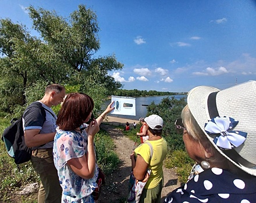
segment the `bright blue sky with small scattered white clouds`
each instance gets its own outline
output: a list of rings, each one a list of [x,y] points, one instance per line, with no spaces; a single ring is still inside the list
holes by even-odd
[[[187,92],[256,79],[255,0],[1,0],[0,17],[31,28],[29,5],[68,17],[79,4],[97,14],[96,56],[114,53],[124,64],[109,73],[123,89]]]

